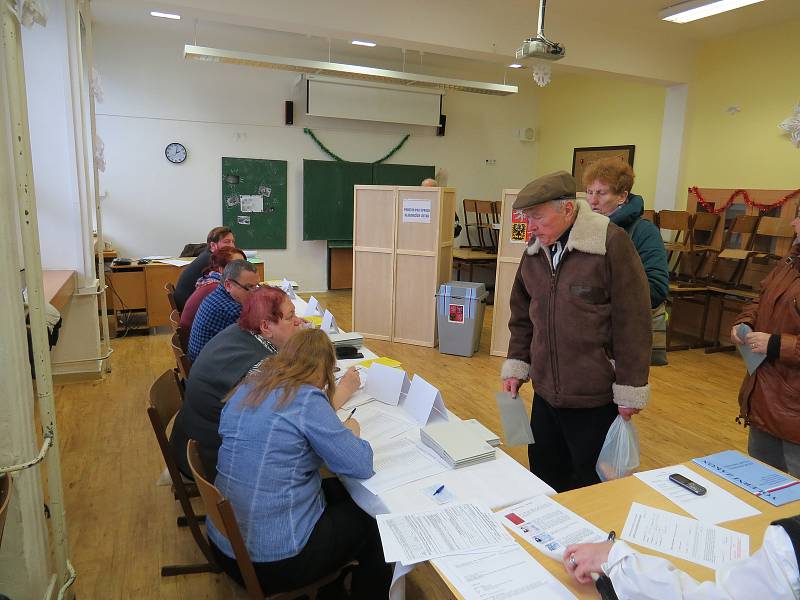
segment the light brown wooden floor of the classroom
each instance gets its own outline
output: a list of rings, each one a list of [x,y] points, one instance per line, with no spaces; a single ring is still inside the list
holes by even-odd
[[[320,294],[320,301],[350,327],[350,292]],[[500,432],[494,392],[502,359],[488,354],[492,311],[486,311],[480,351],[472,358],[437,349],[369,341],[439,387],[447,407]],[[70,558],[81,599],[231,598],[221,575],[161,578],[163,564],[197,562],[190,534],[168,488],[157,487],[163,469],[145,403],[152,381],[174,366],[166,333],[114,341],[113,371],[101,382],[56,389],[58,426],[69,524]],[[746,450],[746,433],[734,422],[743,375],[738,357],[700,350],[669,354],[670,365],[651,371],[650,405],[635,418],[642,469],[675,464],[728,448]],[[523,396],[531,397],[530,386]],[[527,466],[525,447],[506,448]],[[430,567],[408,578],[407,597],[450,598]]]

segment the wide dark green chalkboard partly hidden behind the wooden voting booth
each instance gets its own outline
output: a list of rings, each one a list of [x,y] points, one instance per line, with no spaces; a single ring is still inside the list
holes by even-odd
[[[419,185],[435,168],[331,160],[303,161],[303,239],[353,239],[354,185]]]

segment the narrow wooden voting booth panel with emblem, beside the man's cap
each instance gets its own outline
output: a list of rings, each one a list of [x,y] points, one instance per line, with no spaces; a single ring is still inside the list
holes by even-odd
[[[503,190],[501,195],[502,209],[500,214],[500,240],[497,247],[497,272],[494,284],[494,316],[492,318],[492,344],[489,353],[492,356],[506,356],[511,333],[508,331],[508,320],[511,317],[509,299],[511,286],[517,274],[522,253],[527,244],[527,226],[519,213],[514,216],[511,206],[517,199],[519,190]]]

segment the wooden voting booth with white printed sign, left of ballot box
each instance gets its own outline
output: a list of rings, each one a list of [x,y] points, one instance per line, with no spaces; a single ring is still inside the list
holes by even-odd
[[[455,202],[453,188],[354,186],[355,331],[436,345],[435,294],[452,273]]]

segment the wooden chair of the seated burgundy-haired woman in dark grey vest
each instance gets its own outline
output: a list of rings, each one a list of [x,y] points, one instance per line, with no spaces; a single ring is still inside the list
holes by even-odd
[[[181,476],[178,464],[172,454],[167,437],[167,426],[178,414],[181,408],[182,396],[175,371],[164,371],[150,387],[150,399],[147,405],[147,416],[150,417],[150,424],[153,426],[153,433],[156,436],[158,447],[161,449],[161,456],[167,465],[167,471],[172,478],[172,493],[180,503],[183,510],[183,517],[178,518],[179,526],[186,526],[192,532],[192,537],[200,551],[208,562],[192,565],[168,565],[161,567],[162,577],[172,577],[174,575],[187,575],[190,573],[219,573],[221,571],[214,559],[211,547],[208,545],[203,532],[200,531],[200,522],[204,519],[203,515],[197,515],[192,508],[190,497],[199,495],[194,484],[187,484]]]

